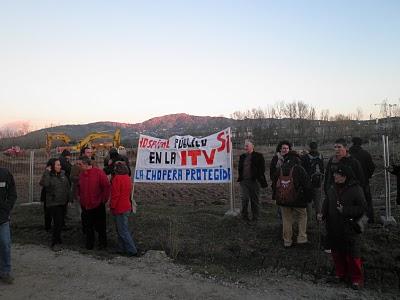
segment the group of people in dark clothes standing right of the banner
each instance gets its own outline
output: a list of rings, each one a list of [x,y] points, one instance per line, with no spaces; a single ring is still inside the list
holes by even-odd
[[[334,281],[347,281],[359,289],[364,278],[360,255],[358,222],[364,215],[374,222],[372,197],[369,188],[375,164],[362,148],[362,140],[352,139],[348,148],[344,139],[334,144],[334,155],[324,163],[316,142],[301,154],[292,149],[289,141],[281,141],[270,163],[272,199],[278,205],[282,222],[284,248],[293,242],[293,223],[298,224],[296,244],[307,244],[307,220],[311,216],[324,222],[325,249],[332,253],[335,265]],[[251,141],[245,142],[245,153],[239,158],[239,177],[242,210],[246,222],[259,219],[260,187],[266,188],[265,161],[254,151]],[[323,197],[324,196],[324,197]],[[249,218],[248,204],[252,218]],[[313,207],[313,209],[312,209]],[[365,218],[366,219],[366,218]]]

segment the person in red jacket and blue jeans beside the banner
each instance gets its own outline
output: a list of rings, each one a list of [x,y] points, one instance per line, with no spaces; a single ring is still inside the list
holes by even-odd
[[[128,227],[128,217],[132,211],[132,181],[129,169],[123,161],[115,163],[115,175],[111,180],[110,210],[115,217],[118,234],[118,252],[128,256],[136,256],[137,249]]]

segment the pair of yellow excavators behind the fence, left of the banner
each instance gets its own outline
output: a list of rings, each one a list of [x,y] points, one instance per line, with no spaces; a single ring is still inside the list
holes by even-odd
[[[102,143],[94,145],[92,142],[96,139],[112,139],[112,143]],[[53,140],[63,141],[65,144],[69,144],[71,142],[71,138],[65,133],[51,133],[48,132],[46,134],[46,151],[50,153],[51,144]],[[68,149],[72,152],[79,152],[84,146],[92,145],[94,148],[119,148],[121,147],[121,129],[117,128],[115,133],[107,133],[107,132],[92,132],[80,140],[76,145],[69,145],[67,147],[63,147],[64,149]]]

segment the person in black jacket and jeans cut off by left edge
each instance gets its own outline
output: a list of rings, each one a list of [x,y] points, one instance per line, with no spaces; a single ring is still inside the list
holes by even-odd
[[[11,284],[11,234],[10,213],[17,200],[14,177],[5,168],[0,168],[0,280]]]

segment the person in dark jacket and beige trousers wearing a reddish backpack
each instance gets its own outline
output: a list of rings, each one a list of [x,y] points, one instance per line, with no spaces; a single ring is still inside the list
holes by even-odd
[[[279,205],[282,211],[282,237],[286,248],[293,244],[293,221],[297,218],[298,236],[297,244],[305,244],[307,239],[307,204],[311,199],[311,182],[307,172],[300,164],[300,156],[296,151],[289,151],[283,162],[283,165],[276,170],[273,185],[276,189],[276,204]],[[280,190],[278,182],[283,180],[286,184],[293,180],[294,185],[294,200],[291,202],[282,202],[280,199]],[[288,177],[289,176],[289,177]]]

